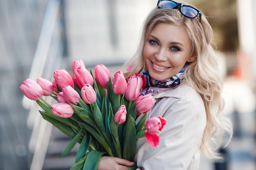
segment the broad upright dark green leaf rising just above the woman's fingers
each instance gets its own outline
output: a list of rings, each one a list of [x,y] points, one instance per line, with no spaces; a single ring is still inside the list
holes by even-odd
[[[127,124],[124,128],[124,150],[123,159],[134,161],[137,147],[136,128],[133,118],[129,115]]]

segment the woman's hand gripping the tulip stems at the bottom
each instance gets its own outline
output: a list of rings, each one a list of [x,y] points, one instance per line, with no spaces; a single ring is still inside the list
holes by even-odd
[[[134,162],[117,157],[101,157],[98,170],[128,170],[126,166],[134,166]]]

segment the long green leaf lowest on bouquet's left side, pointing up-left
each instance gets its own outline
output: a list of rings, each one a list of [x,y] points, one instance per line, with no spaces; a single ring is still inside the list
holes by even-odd
[[[72,130],[72,128],[70,126],[67,126],[66,124],[63,124],[62,122],[50,117],[49,115],[47,115],[47,113],[45,113],[43,111],[39,110],[39,112],[42,115],[43,119],[45,119],[46,121],[49,121],[51,124],[56,126],[56,128],[61,130],[67,136],[73,138],[76,135],[76,133],[74,132],[74,130]]]

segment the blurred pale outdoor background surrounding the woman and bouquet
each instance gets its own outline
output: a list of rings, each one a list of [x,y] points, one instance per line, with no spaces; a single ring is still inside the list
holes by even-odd
[[[209,18],[224,75],[224,113],[234,137],[223,161],[202,155],[200,170],[256,169],[255,0],[189,0]],[[115,73],[138,45],[144,18],[157,0],[0,0],[0,170],[69,170],[70,138],[44,121],[19,86],[53,80],[56,69],[104,64]]]

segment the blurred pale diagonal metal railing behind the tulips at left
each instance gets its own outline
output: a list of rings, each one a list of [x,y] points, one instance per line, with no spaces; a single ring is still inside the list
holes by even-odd
[[[29,78],[37,77],[52,79],[54,70],[65,68],[63,53],[67,53],[65,46],[65,22],[63,21],[63,0],[49,0],[45,17],[36,48]],[[46,97],[46,101],[50,98]],[[24,108],[30,109],[27,126],[32,129],[29,141],[29,151],[33,155],[30,170],[42,170],[52,124],[45,121],[38,113],[40,109],[36,102],[24,97]]]

